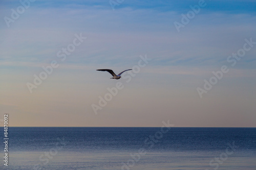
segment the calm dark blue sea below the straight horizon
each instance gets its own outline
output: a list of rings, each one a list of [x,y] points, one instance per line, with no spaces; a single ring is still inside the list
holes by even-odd
[[[0,169],[256,169],[256,128],[10,127],[8,166],[0,147]]]

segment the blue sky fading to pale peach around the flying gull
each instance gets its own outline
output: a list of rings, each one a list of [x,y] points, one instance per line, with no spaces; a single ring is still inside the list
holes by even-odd
[[[8,113],[13,127],[256,127],[255,9],[1,1],[0,124]],[[133,70],[115,80],[103,68]]]

